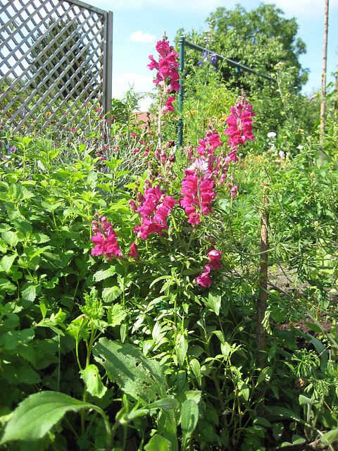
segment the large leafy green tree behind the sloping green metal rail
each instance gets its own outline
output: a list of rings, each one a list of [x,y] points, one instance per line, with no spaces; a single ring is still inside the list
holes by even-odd
[[[297,98],[297,103],[308,103],[300,94],[308,78],[308,70],[303,69],[299,62],[299,56],[306,52],[306,44],[297,36],[299,25],[295,18],[284,18],[284,12],[273,4],[260,4],[252,11],[246,11],[237,4],[233,10],[217,8],[206,23],[209,26],[206,32],[192,30],[184,33],[184,30],[179,30],[176,42],[185,34],[194,44],[256,71],[238,70],[220,59],[215,65],[219,82],[238,94],[244,89],[255,103],[256,123],[262,132],[277,130],[287,121],[285,99],[292,96]],[[199,60],[201,54],[186,47],[184,73],[187,85],[196,74]],[[260,73],[270,75],[273,81],[261,77]],[[282,80],[283,99],[278,91],[277,76]],[[190,82],[190,87],[194,89],[194,82]],[[186,97],[189,95],[187,91]],[[300,119],[303,123],[304,118]],[[303,128],[311,128],[314,122],[304,124]]]

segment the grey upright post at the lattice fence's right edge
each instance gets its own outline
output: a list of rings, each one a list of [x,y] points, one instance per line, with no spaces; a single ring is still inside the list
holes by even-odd
[[[112,78],[113,78],[113,13],[106,11],[104,17],[104,73],[102,106],[104,115],[111,115]],[[109,122],[110,123],[110,122]],[[108,124],[109,124],[108,123]]]

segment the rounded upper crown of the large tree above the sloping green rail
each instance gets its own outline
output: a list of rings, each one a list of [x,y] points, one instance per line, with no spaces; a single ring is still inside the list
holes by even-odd
[[[237,4],[233,11],[217,8],[207,21],[214,36],[219,37],[214,43],[215,51],[268,75],[282,61],[286,68],[294,68],[292,88],[300,92],[308,78],[308,70],[299,63],[299,56],[306,53],[306,44],[297,37],[296,19],[283,16],[284,12],[273,4],[260,4],[249,12]],[[243,76],[248,79],[247,74]],[[250,85],[249,81],[246,83]]]

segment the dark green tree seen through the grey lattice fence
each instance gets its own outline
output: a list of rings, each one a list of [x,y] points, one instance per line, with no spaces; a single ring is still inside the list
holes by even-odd
[[[73,91],[73,98],[79,97],[88,85],[94,88],[96,84],[87,62],[89,49],[84,49],[78,25],[76,21],[70,23],[68,19],[56,21],[52,18],[47,25],[48,33],[42,41],[37,44],[37,40],[42,37],[41,32],[32,39],[30,59],[34,67],[31,73],[37,74],[35,83],[38,85],[43,82],[44,87],[49,88],[58,80],[58,89],[63,99],[77,83],[79,85]],[[72,81],[68,82],[72,77]]]

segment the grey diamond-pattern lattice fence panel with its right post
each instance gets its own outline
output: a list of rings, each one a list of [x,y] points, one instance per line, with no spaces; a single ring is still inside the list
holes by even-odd
[[[75,130],[111,111],[113,13],[65,0],[0,0],[0,109],[15,131]],[[97,113],[96,113],[97,116]]]

